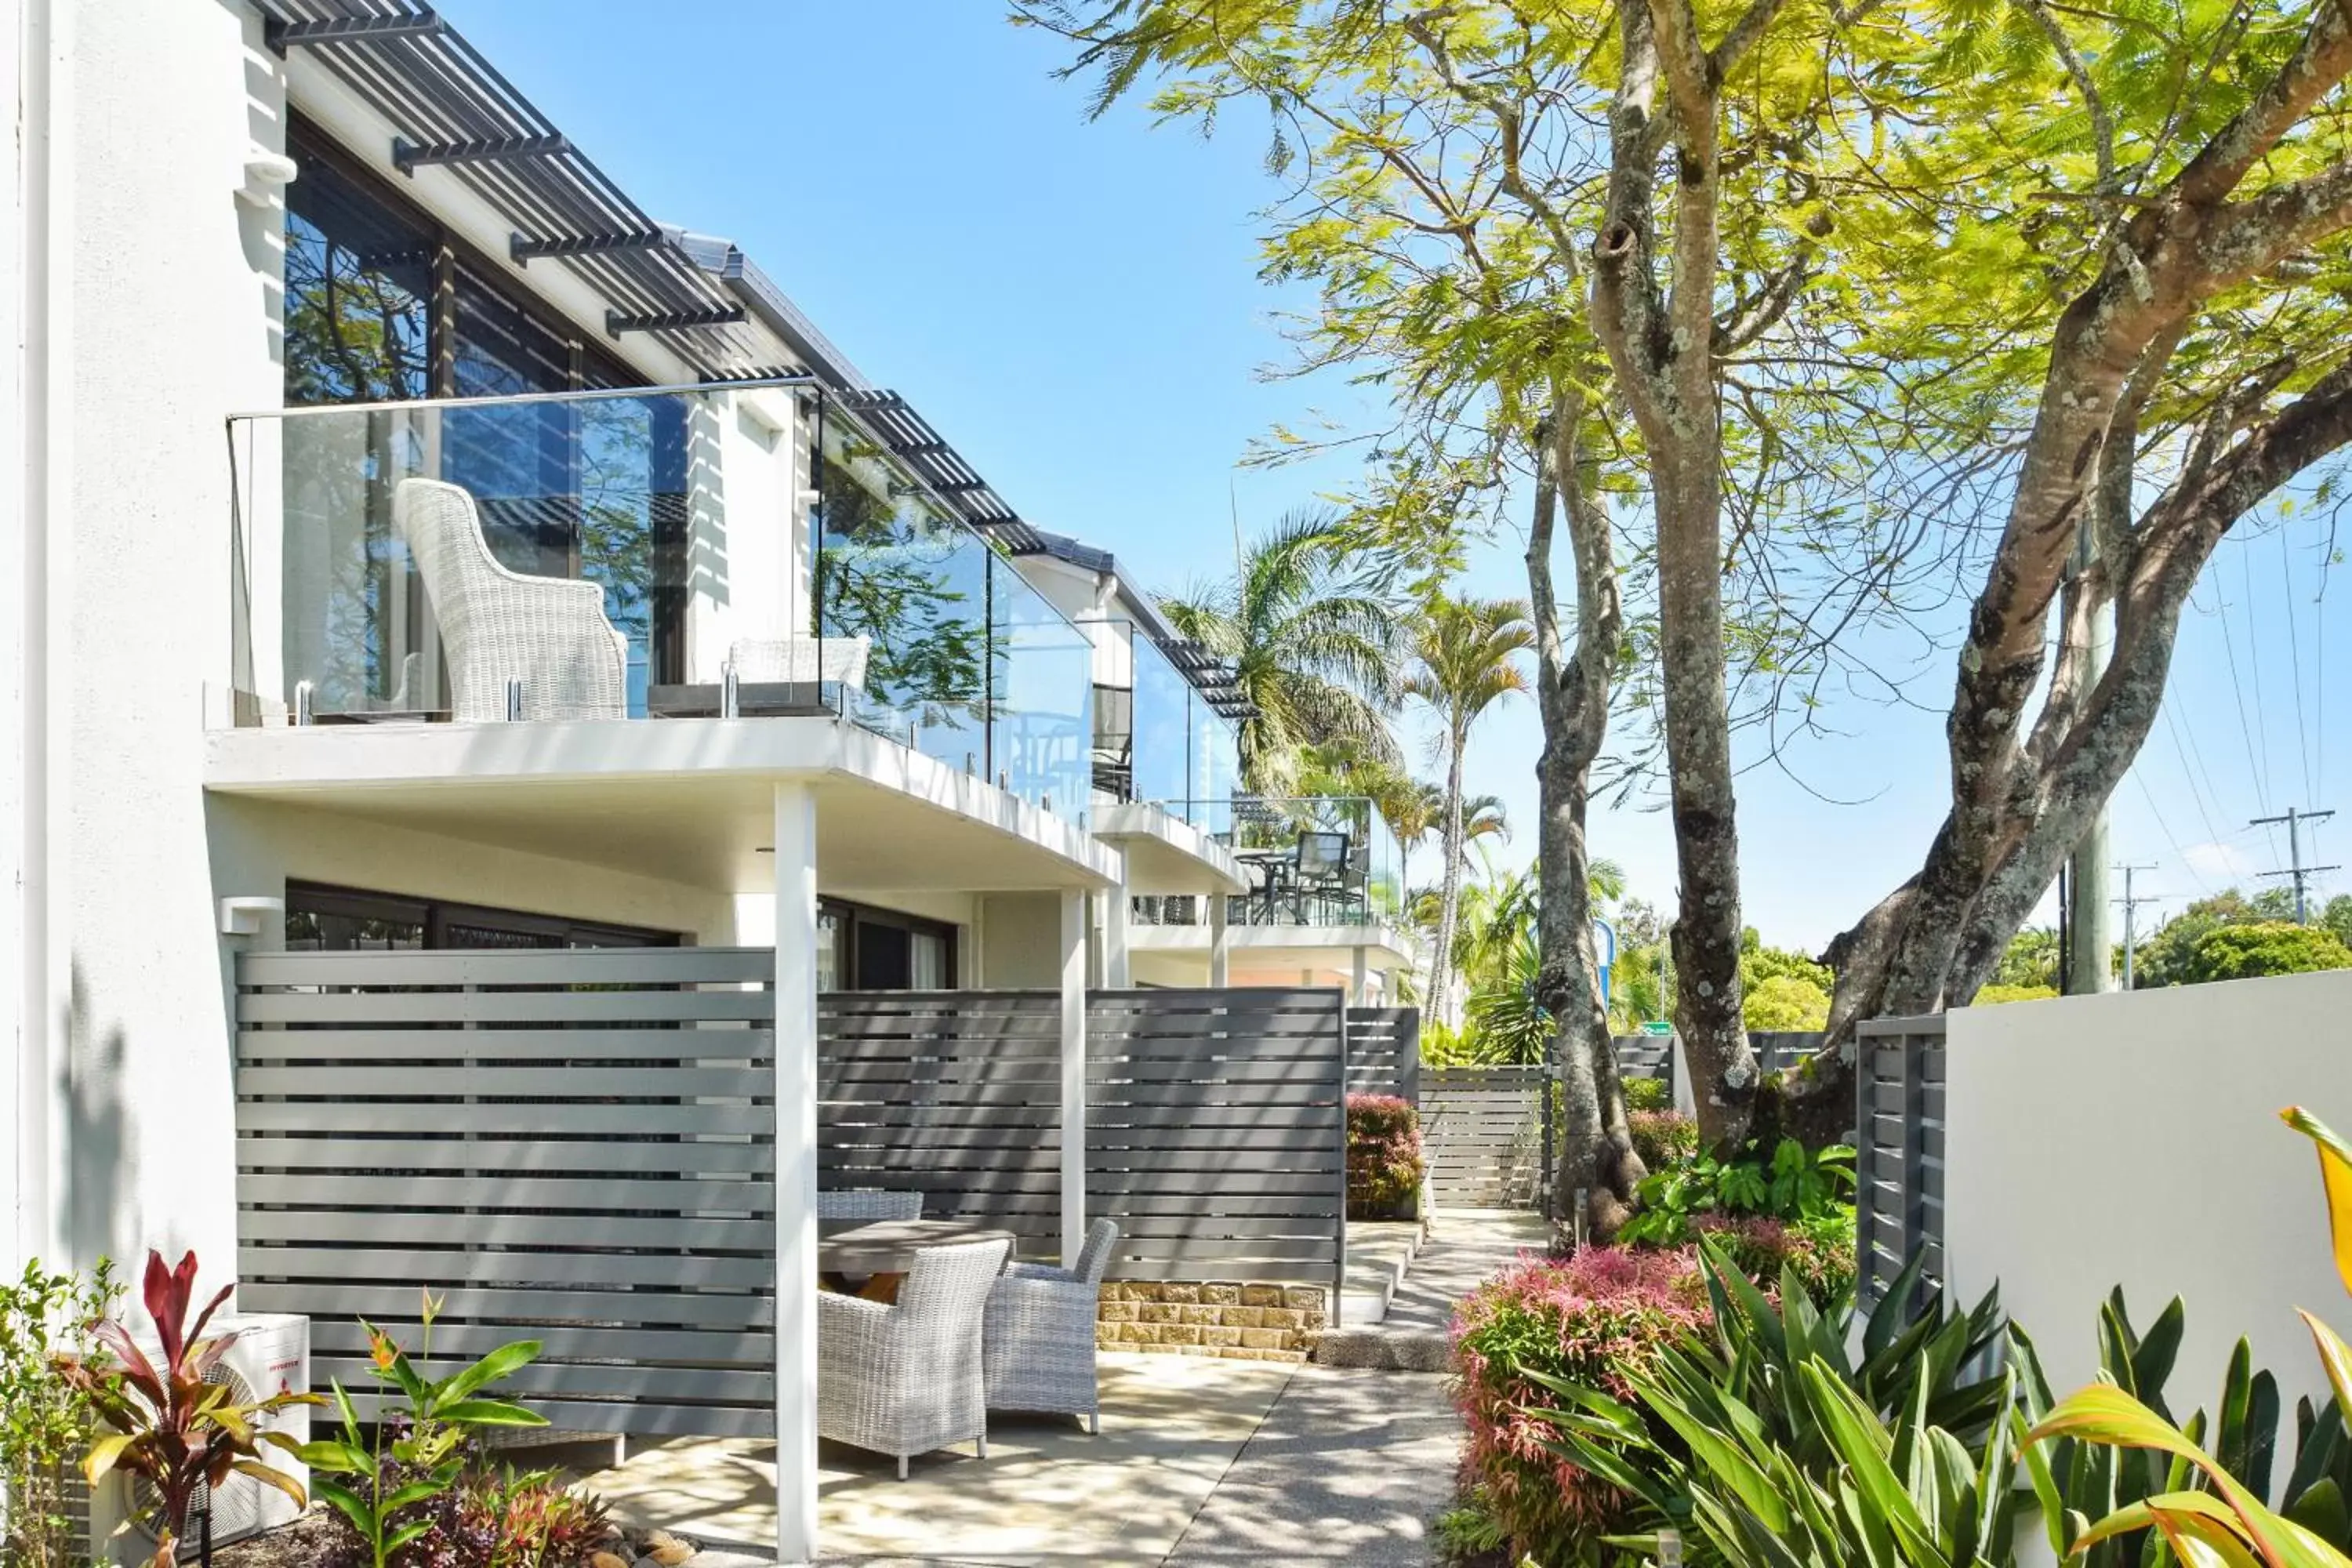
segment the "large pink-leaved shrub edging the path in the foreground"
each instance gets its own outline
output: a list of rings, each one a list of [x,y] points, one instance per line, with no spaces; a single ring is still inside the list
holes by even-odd
[[[1510,1535],[1510,1554],[1581,1561],[1581,1542],[1618,1528],[1625,1495],[1543,1441],[1524,1406],[1557,1406],[1526,1371],[1632,1403],[1628,1373],[1710,1324],[1689,1251],[1585,1248],[1566,1262],[1522,1258],[1454,1312],[1456,1403],[1470,1429],[1463,1490]]]

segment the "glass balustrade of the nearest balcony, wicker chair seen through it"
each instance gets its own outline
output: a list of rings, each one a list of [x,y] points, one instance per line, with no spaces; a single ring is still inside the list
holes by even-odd
[[[837,400],[230,421],[235,726],[830,719],[1084,823],[1091,642]]]

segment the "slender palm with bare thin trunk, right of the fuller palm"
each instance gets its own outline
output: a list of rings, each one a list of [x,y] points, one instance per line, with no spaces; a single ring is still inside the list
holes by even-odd
[[[1536,646],[1536,628],[1524,599],[1454,599],[1435,595],[1414,632],[1414,668],[1404,696],[1437,717],[1437,745],[1446,757],[1444,886],[1437,896],[1437,947],[1430,954],[1430,1004],[1449,1025],[1461,1025],[1449,994],[1454,924],[1461,917],[1463,875],[1463,757],[1479,715],[1505,696],[1526,691],[1519,654]]]

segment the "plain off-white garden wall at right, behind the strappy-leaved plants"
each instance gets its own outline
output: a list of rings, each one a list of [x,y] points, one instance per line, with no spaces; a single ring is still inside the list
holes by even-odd
[[[2098,1366],[2098,1307],[2124,1286],[2145,1328],[2180,1295],[2169,1389],[2211,1410],[2230,1347],[2298,1394],[2326,1378],[2296,1307],[2352,1331],[2328,1262],[2307,1105],[2352,1128],[2352,973],[2281,976],[1950,1016],[1945,1255],[1962,1300],[1999,1281],[2063,1392]],[[2281,1465],[2293,1448],[2288,1429]]]

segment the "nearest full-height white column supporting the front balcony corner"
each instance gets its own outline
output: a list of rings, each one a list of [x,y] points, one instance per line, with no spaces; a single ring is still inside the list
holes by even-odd
[[[776,785],[776,1561],[816,1561],[816,795]]]

